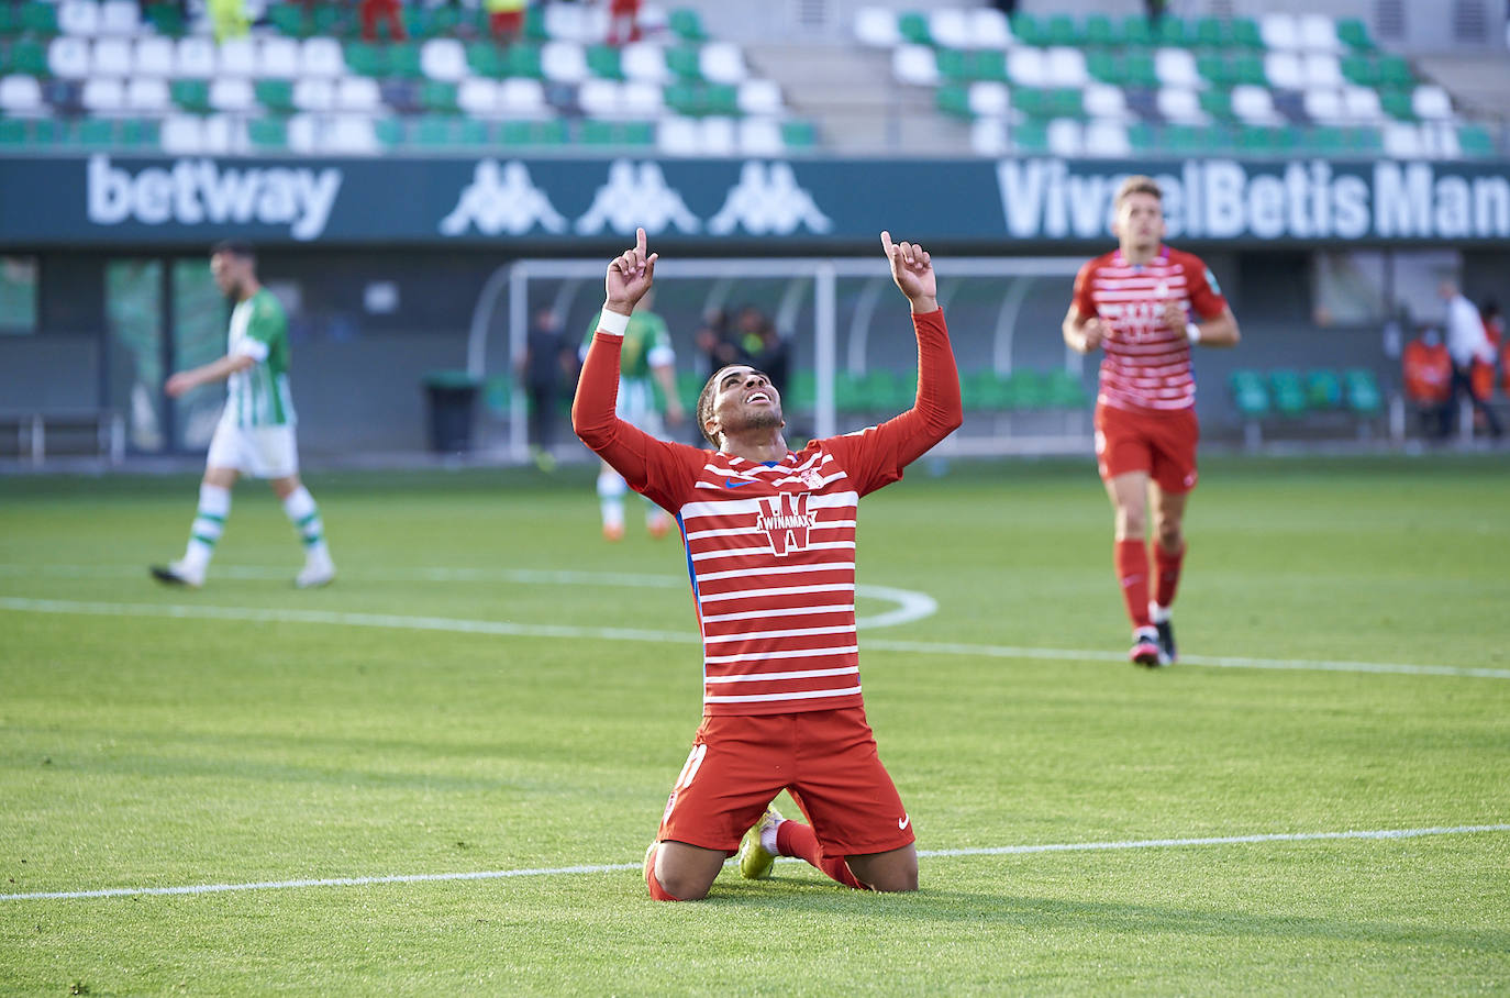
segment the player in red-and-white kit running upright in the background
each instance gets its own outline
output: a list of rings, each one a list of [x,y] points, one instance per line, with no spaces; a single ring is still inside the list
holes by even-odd
[[[1132,619],[1140,666],[1175,661],[1170,605],[1185,557],[1185,500],[1196,488],[1194,344],[1237,346],[1232,310],[1211,270],[1164,246],[1164,204],[1149,177],[1128,177],[1111,204],[1117,251],[1096,257],[1075,278],[1065,343],[1080,353],[1101,347],[1096,393],[1096,464],[1116,509],[1117,580]],[[1154,510],[1157,581],[1149,601],[1145,541]]]

